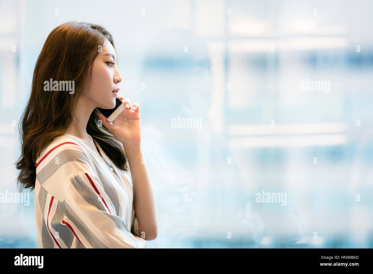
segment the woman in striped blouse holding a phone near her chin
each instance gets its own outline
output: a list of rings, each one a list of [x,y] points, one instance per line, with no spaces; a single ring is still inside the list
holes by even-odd
[[[76,21],[53,29],[37,59],[16,167],[20,189],[35,190],[38,248],[146,248],[157,237],[139,104],[126,98],[113,123],[96,110],[115,107],[116,61],[112,35]]]

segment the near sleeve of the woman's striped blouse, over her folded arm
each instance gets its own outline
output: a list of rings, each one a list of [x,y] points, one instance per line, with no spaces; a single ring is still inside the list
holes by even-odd
[[[62,223],[85,248],[139,248],[124,220],[113,212],[113,204],[93,172],[69,180]]]

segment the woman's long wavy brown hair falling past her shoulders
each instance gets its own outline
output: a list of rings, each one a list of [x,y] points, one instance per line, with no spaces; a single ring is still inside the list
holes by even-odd
[[[65,133],[73,120],[73,110],[89,81],[100,46],[109,40],[116,52],[112,35],[102,26],[87,22],[63,23],[47,37],[35,64],[31,95],[18,125],[22,155],[15,163],[21,170],[18,188],[35,188],[36,159],[50,142]],[[44,91],[44,81],[75,81],[70,91]],[[129,171],[122,144],[103,126],[98,126],[97,110],[90,116],[87,133],[101,146],[116,166]]]

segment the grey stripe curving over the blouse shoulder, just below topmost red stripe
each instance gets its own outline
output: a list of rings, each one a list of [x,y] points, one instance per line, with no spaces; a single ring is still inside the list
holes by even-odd
[[[58,164],[56,164],[56,157],[58,157]],[[56,173],[60,167],[71,161],[85,163],[88,166],[92,166],[84,152],[73,149],[65,149],[60,151],[53,159],[49,161],[45,167],[43,167],[42,170],[38,172],[38,174],[36,174],[40,185],[43,185],[43,183],[53,176],[53,174]]]

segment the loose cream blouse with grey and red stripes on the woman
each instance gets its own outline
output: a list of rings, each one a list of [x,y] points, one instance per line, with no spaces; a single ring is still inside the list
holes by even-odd
[[[76,136],[53,139],[38,157],[38,248],[139,248],[128,174]]]

